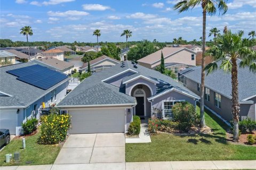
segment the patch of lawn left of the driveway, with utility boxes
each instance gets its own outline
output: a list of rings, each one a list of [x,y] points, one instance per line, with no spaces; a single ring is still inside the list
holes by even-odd
[[[26,137],[26,149],[21,149],[22,139],[13,139],[0,152],[0,166],[27,165],[26,162],[32,162],[29,165],[53,164],[59,154],[60,147],[58,145],[38,145],[36,143],[39,133]],[[5,163],[6,154],[14,154],[15,151],[20,152],[20,162],[12,161]]]

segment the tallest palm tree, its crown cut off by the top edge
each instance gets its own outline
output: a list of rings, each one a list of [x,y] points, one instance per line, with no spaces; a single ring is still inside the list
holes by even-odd
[[[202,73],[201,73],[201,90],[200,90],[200,126],[205,126],[205,119],[204,119],[204,77],[205,77],[205,30],[206,30],[206,13],[209,15],[214,15],[217,12],[217,8],[220,12],[222,12],[222,15],[225,14],[228,10],[228,6],[225,2],[225,0],[183,0],[177,4],[174,5],[174,9],[178,10],[179,13],[188,11],[189,8],[194,8],[197,5],[202,6],[203,10],[203,52],[202,52]]]

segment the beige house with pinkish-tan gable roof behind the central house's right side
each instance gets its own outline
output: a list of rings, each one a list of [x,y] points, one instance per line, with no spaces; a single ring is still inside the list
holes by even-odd
[[[138,64],[154,69],[161,64],[161,52],[164,55],[164,63],[181,63],[185,65],[196,65],[196,53],[184,47],[164,47],[155,53],[138,60]]]

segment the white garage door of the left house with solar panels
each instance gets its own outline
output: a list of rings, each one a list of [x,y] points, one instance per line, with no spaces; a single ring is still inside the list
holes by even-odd
[[[17,109],[0,110],[0,129],[9,129],[11,134],[16,134]]]

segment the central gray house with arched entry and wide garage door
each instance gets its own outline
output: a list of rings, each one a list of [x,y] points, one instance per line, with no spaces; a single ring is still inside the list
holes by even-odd
[[[130,61],[84,79],[57,107],[72,116],[74,133],[126,132],[132,116],[149,118],[158,109],[172,117],[172,106],[199,96],[172,78]]]

